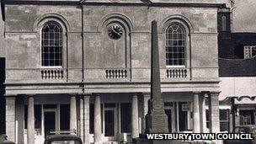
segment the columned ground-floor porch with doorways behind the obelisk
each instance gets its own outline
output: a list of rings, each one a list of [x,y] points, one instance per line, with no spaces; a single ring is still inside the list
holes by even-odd
[[[163,93],[169,132],[219,131],[218,93]],[[18,144],[42,144],[50,131],[72,131],[84,143],[132,141],[144,133],[149,93],[6,96],[7,135]],[[13,131],[14,130],[14,131]]]

